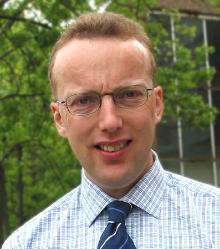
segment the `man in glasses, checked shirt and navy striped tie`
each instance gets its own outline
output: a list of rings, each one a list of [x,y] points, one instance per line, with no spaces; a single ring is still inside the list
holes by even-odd
[[[3,249],[220,248],[219,189],[166,172],[152,151],[163,113],[154,72],[147,35],[121,15],[86,14],[65,30],[50,61],[51,110],[82,183]]]

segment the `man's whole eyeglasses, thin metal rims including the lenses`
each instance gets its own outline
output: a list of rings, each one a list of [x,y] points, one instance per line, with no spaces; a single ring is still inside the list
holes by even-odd
[[[118,107],[135,108],[144,105],[152,94],[153,88],[143,85],[132,85],[115,89],[112,93],[99,94],[97,92],[75,93],[64,101],[56,101],[64,104],[67,110],[78,116],[86,116],[96,112],[102,105],[102,97],[111,95]]]

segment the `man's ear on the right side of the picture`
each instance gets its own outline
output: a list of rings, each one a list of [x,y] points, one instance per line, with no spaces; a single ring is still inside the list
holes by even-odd
[[[154,88],[155,94],[155,124],[161,121],[163,116],[164,104],[163,104],[163,90],[160,86]]]

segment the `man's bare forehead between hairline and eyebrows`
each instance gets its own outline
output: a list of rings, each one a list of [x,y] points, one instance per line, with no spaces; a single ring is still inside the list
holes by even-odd
[[[80,82],[86,88],[143,78],[151,75],[151,70],[149,51],[137,40],[93,38],[73,39],[61,48],[53,74],[57,88]]]

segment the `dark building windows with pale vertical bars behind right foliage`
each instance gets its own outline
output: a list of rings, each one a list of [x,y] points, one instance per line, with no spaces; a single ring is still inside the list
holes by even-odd
[[[172,23],[171,18],[160,12],[151,14],[151,20],[160,22],[172,39],[171,30],[175,32],[175,24]],[[197,18],[184,15],[181,22],[197,28],[196,37],[193,40],[178,37],[185,46],[193,49],[204,44],[207,38],[208,46],[215,48],[215,52],[207,58],[207,65],[216,70],[211,82],[211,90],[207,84],[207,89],[198,90],[198,94],[201,94],[207,102],[211,100],[210,103],[220,111],[220,18],[210,20],[208,17]],[[172,27],[173,24],[174,27]],[[163,66],[163,64],[161,60],[159,65]],[[208,96],[209,91],[210,96]],[[220,113],[217,115],[215,124],[205,130],[183,129],[181,123],[179,126],[173,122],[161,124],[157,128],[156,140],[157,151],[166,169],[220,186]]]

